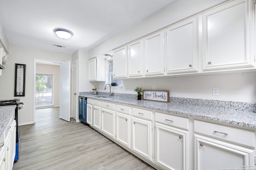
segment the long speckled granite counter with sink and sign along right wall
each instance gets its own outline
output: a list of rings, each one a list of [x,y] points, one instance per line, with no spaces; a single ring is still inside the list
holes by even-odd
[[[170,102],[165,103],[150,100],[136,100],[135,95],[127,94],[116,96],[114,94],[114,96],[106,98],[99,98],[98,96],[107,96],[107,93],[93,95],[90,92],[80,92],[79,95],[106,102],[126,104],[130,106],[154,109],[157,111],[256,128],[256,104],[186,98],[170,98]]]

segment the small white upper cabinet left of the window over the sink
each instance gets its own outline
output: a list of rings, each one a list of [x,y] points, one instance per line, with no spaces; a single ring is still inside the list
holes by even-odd
[[[105,81],[105,59],[94,57],[89,59],[89,82]]]

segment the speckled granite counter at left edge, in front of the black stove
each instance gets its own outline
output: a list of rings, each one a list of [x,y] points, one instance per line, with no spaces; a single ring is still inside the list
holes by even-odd
[[[14,106],[0,106],[0,137],[4,133],[6,124],[10,120],[12,113],[14,113],[16,105]]]

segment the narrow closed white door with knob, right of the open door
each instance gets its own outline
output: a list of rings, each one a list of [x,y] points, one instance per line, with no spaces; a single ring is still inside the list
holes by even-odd
[[[78,120],[77,116],[77,61],[72,64],[72,118]]]

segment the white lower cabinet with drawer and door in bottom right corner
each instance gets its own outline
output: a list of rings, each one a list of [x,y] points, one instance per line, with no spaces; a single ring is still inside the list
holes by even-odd
[[[194,121],[196,170],[255,168],[255,132]]]

